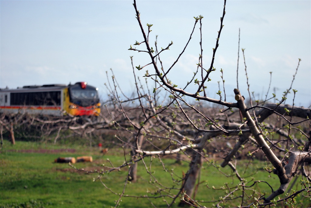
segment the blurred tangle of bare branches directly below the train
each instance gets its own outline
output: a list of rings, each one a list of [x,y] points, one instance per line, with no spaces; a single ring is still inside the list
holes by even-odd
[[[8,133],[7,137],[12,144],[15,144],[15,138],[56,144],[58,140],[71,137],[82,138],[80,140],[94,145],[92,138],[98,137],[99,130],[111,129],[114,124],[106,115],[58,117],[28,114],[25,109],[18,113],[1,113],[0,116],[1,141],[3,141],[3,135]],[[99,141],[97,139],[97,142]]]

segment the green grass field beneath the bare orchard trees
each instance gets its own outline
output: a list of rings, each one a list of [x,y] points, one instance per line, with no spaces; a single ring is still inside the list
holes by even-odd
[[[68,151],[64,151],[67,149]],[[73,152],[72,149],[75,151]],[[53,150],[53,151],[52,151]],[[93,181],[98,174],[86,174],[77,172],[66,163],[54,163],[54,159],[58,157],[78,157],[89,155],[93,157],[92,163],[76,163],[77,168],[85,168],[87,170],[100,170],[104,163],[110,166],[111,161],[115,166],[121,165],[124,161],[123,151],[108,151],[103,155],[98,148],[90,148],[85,146],[74,146],[67,144],[52,145],[39,144],[34,142],[17,141],[12,146],[9,142],[4,141],[3,148],[0,153],[0,207],[29,207],[29,208],[84,208],[84,207],[114,207],[118,195],[112,193],[100,183],[99,180]],[[182,172],[188,170],[188,163],[183,162],[177,164],[174,159],[163,158],[167,171],[163,169],[158,158],[153,158],[151,166],[152,174],[158,181],[166,186],[173,184],[172,178],[178,179],[182,176]],[[146,165],[149,167],[150,158],[145,159]],[[247,166],[247,162],[243,163],[239,168],[243,170]],[[264,166],[263,162],[254,161],[247,168],[247,173],[243,175],[250,177],[258,173],[257,180],[265,180],[270,182],[275,188],[278,183],[275,175],[269,175],[260,169]],[[126,186],[124,195],[143,196],[149,195],[156,191],[156,183],[144,170],[145,167],[140,162],[138,166],[138,181],[130,183]],[[150,170],[150,169],[149,169]],[[174,174],[172,175],[172,170]],[[229,168],[221,168],[222,172],[227,175],[231,174]],[[102,181],[107,187],[116,193],[122,193],[128,168],[124,167],[121,171],[113,171],[112,173],[102,176]],[[215,167],[208,163],[204,163],[201,172],[201,181],[196,199],[202,201],[212,201],[224,195],[224,191],[212,190],[211,187],[221,188],[228,184],[237,183],[236,178],[226,177],[220,173]],[[176,188],[180,184],[175,185]],[[207,188],[210,187],[210,188]],[[269,191],[269,187],[260,183],[257,187],[261,191]],[[176,190],[171,190],[170,194],[176,194]],[[157,195],[154,195],[157,196]],[[151,202],[156,207],[167,207],[167,203],[171,202],[169,198],[135,198],[123,197],[118,207],[143,208],[152,207]],[[177,207],[179,200],[173,207]],[[212,206],[212,203],[204,204]]]

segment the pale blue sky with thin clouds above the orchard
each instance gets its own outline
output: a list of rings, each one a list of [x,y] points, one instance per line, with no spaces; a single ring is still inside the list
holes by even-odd
[[[124,93],[135,90],[134,66],[150,63],[148,54],[129,51],[143,37],[135,17],[133,2],[123,1],[0,1],[0,88],[25,85],[69,84],[88,82],[98,87],[106,99],[105,83],[111,82],[111,71]],[[203,67],[209,68],[212,48],[220,29],[223,1],[137,1],[142,24],[153,24],[149,43],[169,50],[161,53],[164,69],[168,69],[183,51],[195,19],[202,19]],[[239,89],[245,97],[249,91],[256,99],[272,93],[281,99],[288,89],[301,62],[292,88],[297,90],[294,103],[311,105],[311,1],[227,1],[216,52],[208,96],[219,98],[218,83],[223,76],[227,101],[234,102],[237,87],[238,42]],[[200,54],[200,30],[196,26],[192,39],[182,57],[168,73],[169,79],[183,88],[197,69]],[[242,50],[244,49],[245,65]],[[223,70],[223,75],[220,72]],[[144,80],[146,70],[135,70]],[[272,72],[272,73],[270,73]],[[246,76],[247,73],[247,76]],[[108,79],[107,79],[108,74]],[[271,76],[271,85],[270,83]],[[248,80],[247,80],[247,78]],[[148,82],[152,84],[151,80]],[[195,83],[188,91],[194,93]],[[269,90],[269,91],[268,91]],[[222,94],[224,97],[224,94]],[[276,101],[276,100],[271,100]],[[277,101],[276,101],[277,102]],[[286,100],[293,103],[293,92]]]

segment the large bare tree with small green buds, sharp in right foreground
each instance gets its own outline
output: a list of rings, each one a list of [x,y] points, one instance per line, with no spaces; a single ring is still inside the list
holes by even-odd
[[[226,151],[226,153],[223,153],[224,161],[221,166],[229,166],[232,169],[234,176],[238,178],[239,183],[235,187],[228,187],[227,194],[225,194],[224,197],[216,203],[217,207],[220,207],[222,203],[232,200],[235,197],[241,199],[237,206],[266,206],[278,203],[278,201],[288,201],[289,199],[293,199],[297,194],[307,191],[309,188],[309,186],[306,185],[305,188],[294,192],[290,196],[284,196],[280,200],[274,200],[277,196],[286,193],[290,182],[297,173],[302,173],[309,180],[307,171],[304,169],[310,162],[311,156],[309,154],[309,135],[306,133],[306,131],[310,128],[310,109],[297,108],[294,105],[285,106],[282,104],[291,90],[294,94],[296,93],[296,91],[292,89],[293,82],[290,84],[289,89],[285,91],[278,104],[268,103],[269,100],[275,98],[275,95],[268,98],[268,92],[265,100],[254,101],[250,91],[248,90],[248,106],[239,89],[232,89],[236,102],[226,101],[225,88],[223,88],[224,92],[221,92],[220,89],[217,92],[219,99],[213,99],[207,96],[207,86],[208,81],[210,81],[210,75],[216,71],[214,68],[214,59],[219,46],[220,34],[222,32],[223,21],[225,18],[225,3],[226,1],[224,1],[222,17],[220,18],[220,29],[216,37],[216,44],[215,48],[213,48],[209,68],[203,67],[203,46],[201,35],[201,54],[198,58],[199,63],[197,64],[196,70],[193,71],[193,77],[185,83],[183,88],[180,88],[170,81],[171,79],[169,76],[174,76],[172,68],[182,57],[184,50],[181,51],[178,58],[171,64],[170,67],[164,67],[162,65],[160,55],[163,55],[164,51],[168,50],[169,47],[173,45],[173,42],[169,43],[168,46],[161,48],[161,50],[158,49],[157,42],[154,46],[151,46],[149,42],[149,35],[152,24],[147,24],[147,30],[145,32],[144,26],[141,22],[140,12],[137,9],[136,1],[134,1],[133,5],[136,12],[136,18],[140,26],[143,39],[140,42],[136,41],[134,44],[135,47],[131,46],[129,50],[146,53],[146,55],[150,58],[150,62],[147,64],[142,64],[142,66],[139,65],[136,67],[133,66],[134,80],[137,86],[137,94],[135,99],[137,99],[138,102],[138,107],[135,108],[135,113],[140,115],[138,119],[137,117],[129,116],[129,112],[134,110],[134,108],[129,110],[123,107],[125,101],[119,99],[120,96],[117,93],[119,86],[115,82],[114,76],[114,85],[110,86],[111,92],[114,94],[114,100],[118,103],[118,108],[121,109],[124,117],[126,117],[134,129],[134,131],[131,131],[131,134],[133,135],[130,139],[131,142],[127,143],[132,149],[132,159],[126,161],[125,164],[134,167],[134,164],[138,161],[142,161],[143,164],[145,164],[145,158],[150,156],[157,156],[160,158],[161,155],[176,155],[180,153],[192,154],[191,161],[189,163],[189,170],[180,178],[182,185],[179,189],[177,189],[178,193],[176,195],[173,196],[164,194],[168,188],[163,184],[158,184],[158,186],[161,187],[158,190],[158,193],[161,193],[160,197],[166,196],[172,198],[172,201],[167,203],[168,207],[170,207],[174,201],[180,197],[182,197],[182,200],[179,203],[180,206],[192,205],[195,207],[201,207],[199,202],[195,201],[195,193],[197,191],[197,186],[199,185],[198,179],[200,176],[202,161],[208,161],[207,149],[210,149],[211,145],[213,145],[211,139],[221,135],[226,135],[226,137],[223,137],[223,140],[226,141],[223,144],[232,146],[231,149]],[[197,24],[200,24],[201,29],[202,18],[202,16],[195,18],[192,33],[190,34],[184,49],[190,43],[193,31],[196,29]],[[244,49],[242,49],[242,52],[247,76]],[[297,73],[299,63],[295,75]],[[152,92],[148,88],[150,85],[147,83],[146,86],[143,86],[140,83],[139,78],[135,75],[135,69],[142,70],[144,68],[148,68],[145,73],[145,77],[148,78],[148,82],[154,82]],[[220,71],[223,73],[222,69]],[[295,79],[295,75],[293,81]],[[224,83],[224,80],[222,80],[222,82]],[[193,83],[197,85],[197,89],[194,91],[188,91],[187,89]],[[249,88],[248,79],[247,85]],[[159,100],[159,97],[165,97],[166,99]],[[201,102],[217,104],[220,112],[207,116],[208,114],[203,112],[204,110],[202,108],[188,103],[191,98]],[[132,99],[127,98],[127,100]],[[160,102],[161,104],[159,104]],[[139,111],[141,113],[137,113]],[[280,121],[280,123],[284,125],[277,126],[269,124],[267,119],[273,116],[276,116],[276,120]],[[297,120],[297,117],[302,119],[294,122],[294,120]],[[303,125],[305,130],[296,127],[297,125]],[[195,134],[189,134],[190,131],[186,131],[187,128],[190,128],[192,132],[195,132]],[[294,135],[296,132],[300,132],[302,136],[295,138]],[[200,136],[200,133],[203,133],[204,136]],[[279,135],[279,139],[277,140],[271,136],[275,133]],[[163,143],[159,144],[151,142],[151,140],[146,139],[146,135],[149,138],[158,138],[160,141],[163,141]],[[231,136],[234,139],[226,139],[228,136]],[[235,142],[233,143],[233,141]],[[126,143],[125,141],[123,142]],[[147,143],[152,146],[148,147],[148,145],[146,145]],[[256,192],[254,185],[256,183],[261,183],[261,181],[257,180],[253,182],[253,185],[248,185],[249,181],[243,178],[238,171],[238,162],[235,160],[235,157],[237,157],[239,151],[245,148],[245,145],[247,145],[250,149],[250,156],[261,152],[263,157],[272,166],[272,170],[270,172],[273,172],[278,176],[280,182],[279,188],[274,190],[274,188],[270,186],[271,193],[267,196],[263,193]],[[233,160],[235,162],[232,162]],[[165,166],[165,164],[163,164],[163,166]],[[299,171],[299,167],[302,167],[302,171]],[[131,169],[130,172],[132,170],[133,169]],[[109,172],[110,171],[113,171],[113,169],[109,170]],[[146,171],[151,175],[151,177],[153,177],[147,167]],[[102,183],[104,184],[104,182]],[[196,183],[197,185],[195,185]],[[249,189],[252,190],[251,194],[249,194]],[[237,193],[241,194],[235,195]],[[124,197],[124,192],[119,196],[120,199],[121,197]],[[249,200],[249,196],[253,196],[253,198]]]

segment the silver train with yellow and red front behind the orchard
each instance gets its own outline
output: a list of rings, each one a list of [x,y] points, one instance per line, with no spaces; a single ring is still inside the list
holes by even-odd
[[[98,88],[87,82],[0,89],[0,113],[98,116]]]

